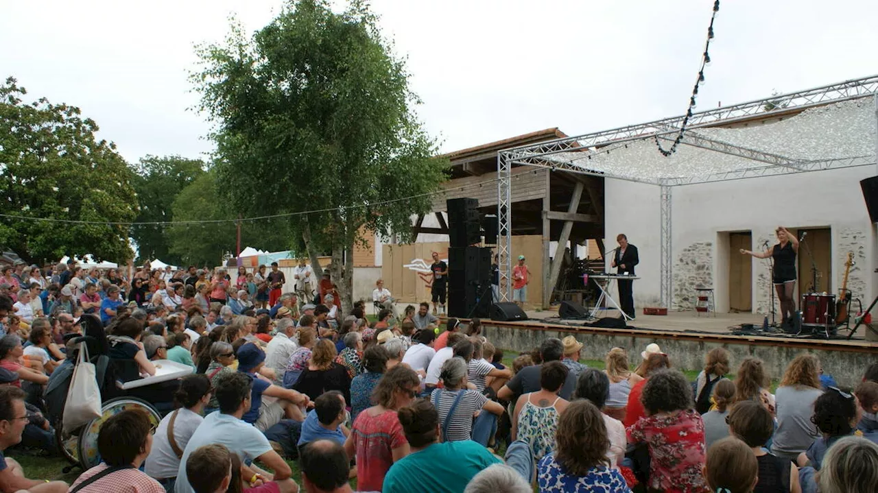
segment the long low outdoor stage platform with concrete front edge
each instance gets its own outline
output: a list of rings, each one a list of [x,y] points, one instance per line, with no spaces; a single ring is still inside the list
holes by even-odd
[[[735,335],[731,328],[752,324],[761,328],[763,317],[752,313],[717,313],[716,317],[694,311],[669,312],[666,316],[643,315],[630,321],[626,328],[591,326],[584,320],[561,320],[556,311],[528,311],[529,320],[497,322],[483,319],[485,335],[496,347],[529,351],[547,337],[563,339],[574,335],[584,343],[582,358],[603,360],[612,347],[623,347],[632,364],[651,342],[659,344],[673,365],[681,369],[700,369],[704,354],[714,347],[725,347],[732,354],[732,367],[737,368],[747,356],[766,362],[772,377],[780,378],[789,361],[797,354],[810,352],[820,358],[824,371],[840,384],[854,386],[860,382],[868,365],[878,361],[878,342],[863,339],[866,328],[860,326],[852,340],[812,339],[788,334]],[[617,316],[607,311],[607,316]],[[584,325],[585,324],[585,325]],[[846,336],[846,331],[839,331]],[[734,371],[734,370],[733,370]]]

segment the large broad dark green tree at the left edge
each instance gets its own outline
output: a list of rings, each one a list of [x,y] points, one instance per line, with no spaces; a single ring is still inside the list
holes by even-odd
[[[25,102],[13,78],[0,85],[0,247],[26,261],[93,254],[124,262],[137,214],[131,172],[97,124],[67,104]],[[16,216],[12,218],[10,216]],[[47,222],[36,218],[76,222]]]

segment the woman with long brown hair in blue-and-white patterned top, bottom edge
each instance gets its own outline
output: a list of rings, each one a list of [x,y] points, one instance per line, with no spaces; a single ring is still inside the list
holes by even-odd
[[[630,493],[622,474],[610,468],[609,439],[601,411],[582,399],[558,419],[557,448],[537,467],[541,493]]]

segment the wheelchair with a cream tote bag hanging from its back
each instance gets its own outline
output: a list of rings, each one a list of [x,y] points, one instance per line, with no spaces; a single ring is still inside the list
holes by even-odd
[[[119,389],[116,385],[116,372],[107,355],[109,346],[104,334],[104,326],[100,320],[92,315],[85,315],[81,320],[84,335],[73,340],[76,343],[85,343],[90,361],[95,365],[97,382],[101,389],[101,416],[91,419],[76,430],[64,431],[62,425],[64,402],[67,400],[74,365],[62,365],[57,368],[49,378],[45,396],[47,418],[54,425],[58,449],[70,463],[68,467],[63,468],[64,474],[77,467],[85,471],[100,464],[101,457],[97,453],[97,433],[105,419],[111,418],[121,411],[140,409],[147,413],[152,425],[158,426],[162,420],[162,414],[153,404],[139,397],[126,396],[126,391]],[[69,356],[71,361],[76,361],[73,359],[74,354]]]

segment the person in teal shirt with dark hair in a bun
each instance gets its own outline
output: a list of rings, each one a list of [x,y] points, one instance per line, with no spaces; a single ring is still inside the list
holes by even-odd
[[[440,442],[439,414],[426,399],[398,411],[410,447],[385,475],[385,493],[410,491],[459,492],[484,468],[501,463],[471,440]]]

